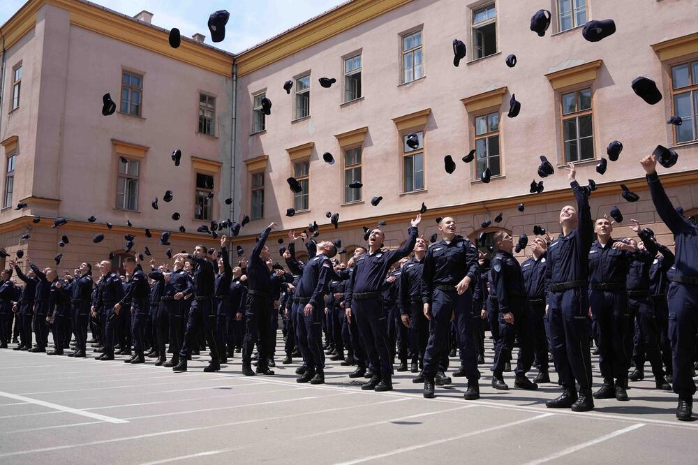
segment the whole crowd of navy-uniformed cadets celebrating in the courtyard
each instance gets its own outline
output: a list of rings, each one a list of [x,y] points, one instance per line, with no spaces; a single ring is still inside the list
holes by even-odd
[[[431,398],[435,386],[452,383],[446,372],[457,349],[452,376],[466,378],[465,399],[478,399],[489,330],[496,390],[509,389],[504,374],[518,348],[514,387],[550,383],[552,364],[562,394],[547,406],[588,411],[594,398],[627,401],[628,381],[644,379],[648,360],[656,388],[671,390],[673,382],[676,415],[688,420],[696,390],[697,228],[669,202],[653,156],[641,164],[660,217],[674,233],[676,255],[637,221],[637,239],[621,240],[612,237],[607,216],[593,221],[589,192],[570,164],[576,205],[560,211],[558,237],[545,233],[528,244],[519,238],[517,249],[528,246],[532,254],[521,264],[507,232],[494,233],[488,259],[456,234],[450,217],[439,219],[441,240],[429,245],[418,237],[421,215],[399,249],[383,249],[376,228],[346,264],[334,258],[333,242],[293,232],[283,251],[286,269],[273,263],[266,241],[275,223],[235,268],[225,236],[217,253],[197,246],[173,256],[172,268],[156,267],[152,259],[146,271],[138,257],[126,258],[124,276],[107,260],[94,265],[98,273],[82,263],[64,276],[29,257],[25,274],[10,260],[0,281],[0,348],[19,337],[14,350],[43,353],[52,332],[54,350],[47,355],[63,355],[74,336],[70,357],[86,357],[91,344],[98,360],[120,354],[140,364],[152,357],[157,366],[186,371],[191,355],[208,348],[205,371],[242,352],[245,375],[272,375],[281,316],[283,364],[302,357],[299,383],[324,383],[327,356],[355,367],[349,377],[369,378],[361,388],[378,392],[392,390],[397,364],[397,371],[415,373],[413,382],[424,383],[424,397]],[[309,254],[306,263],[295,255],[298,239]],[[603,377],[593,393],[591,350],[600,355]],[[526,375],[534,364],[531,381]]]

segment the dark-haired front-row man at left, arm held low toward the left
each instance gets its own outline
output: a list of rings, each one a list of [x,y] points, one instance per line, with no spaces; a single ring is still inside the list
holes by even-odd
[[[136,263],[135,258],[124,258],[124,270],[131,276],[128,280],[128,292],[114,305],[114,313],[131,307],[131,338],[133,339],[133,355],[124,363],[145,363],[144,339],[146,320],[150,310],[150,286],[143,273],[140,263]]]

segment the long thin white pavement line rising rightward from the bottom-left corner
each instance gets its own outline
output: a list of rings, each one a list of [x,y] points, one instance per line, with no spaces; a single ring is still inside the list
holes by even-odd
[[[221,428],[221,427],[229,427],[229,426],[235,426],[235,425],[246,425],[249,423],[265,422],[265,421],[272,421],[272,420],[284,420],[286,418],[294,418],[294,417],[300,417],[300,416],[304,416],[304,415],[316,415],[319,413],[330,413],[330,412],[336,412],[336,411],[341,411],[341,410],[347,410],[348,408],[370,407],[370,406],[375,406],[378,404],[391,404],[392,402],[401,402],[401,401],[406,401],[406,400],[408,400],[408,399],[391,399],[389,401],[372,402],[371,404],[351,405],[351,406],[336,407],[336,408],[325,408],[323,410],[301,412],[301,413],[292,413],[290,415],[280,415],[278,417],[255,418],[253,420],[242,420],[239,422],[229,422],[229,423],[223,423],[223,425],[207,425],[204,427],[193,427],[193,428],[186,428],[186,429],[172,429],[170,431],[157,431],[155,433],[140,434],[138,436],[126,436],[123,438],[111,438],[111,439],[103,439],[101,441],[90,441],[89,443],[65,444],[65,445],[56,445],[56,446],[50,447],[50,448],[20,450],[17,452],[4,452],[4,453],[0,453],[0,457],[14,457],[17,455],[29,455],[29,454],[37,454],[40,452],[51,452],[53,450],[82,448],[82,447],[86,447],[89,445],[119,443],[122,441],[133,441],[135,439],[151,438],[151,437],[156,437],[156,436],[168,436],[169,434],[188,433],[190,431],[202,431],[205,429],[217,429],[217,428]],[[94,423],[98,423],[98,422],[94,422]],[[85,423],[84,425],[89,425],[89,424],[90,423]],[[83,425],[83,424],[78,424],[78,425]],[[77,426],[77,425],[64,425],[64,426]],[[257,447],[256,444],[250,445],[248,447],[253,447],[253,446]]]

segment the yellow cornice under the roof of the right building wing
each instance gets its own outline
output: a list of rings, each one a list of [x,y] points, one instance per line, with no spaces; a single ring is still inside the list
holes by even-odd
[[[290,29],[237,56],[237,73],[244,76],[336,36],[412,0],[353,0]]]

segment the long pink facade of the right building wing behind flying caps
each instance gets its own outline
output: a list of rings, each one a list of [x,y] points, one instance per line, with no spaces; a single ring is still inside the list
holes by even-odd
[[[320,238],[341,238],[350,253],[363,243],[362,226],[385,220],[385,245],[398,246],[424,202],[425,237],[436,232],[434,219],[449,215],[461,235],[474,238],[500,212],[503,221],[487,231],[530,235],[540,225],[557,234],[560,208],[573,202],[563,170],[573,161],[580,184],[593,179],[598,186],[592,215],[614,205],[623,212],[614,235],[632,235],[627,226],[637,219],[671,243],[639,160],[657,145],[678,152],[678,163],[660,168],[660,175],[675,205],[692,214],[698,207],[697,5],[642,3],[354,0],[239,53],[236,202],[252,218],[247,232],[271,221],[281,230],[317,221]],[[551,11],[544,37],[529,30],[540,8]],[[585,22],[607,18],[615,20],[616,34],[597,43],[582,37]],[[455,38],[467,46],[458,67]],[[518,59],[513,68],[505,64],[509,54]],[[631,82],[641,75],[657,82],[660,103],[648,105],[633,93]],[[336,83],[321,87],[321,77]],[[514,94],[521,112],[510,118]],[[269,116],[261,111],[265,96],[273,103]],[[671,115],[683,125],[667,124]],[[419,136],[417,149],[406,145],[409,133]],[[595,167],[614,140],[623,152],[599,175]],[[463,163],[473,149],[475,161]],[[325,152],[334,164],[323,161]],[[447,155],[456,161],[450,175]],[[530,183],[541,179],[541,155],[556,173],[544,179],[544,192],[531,194]],[[480,181],[486,168],[489,184]],[[288,177],[299,180],[302,193],[290,191]],[[348,187],[355,181],[362,189]],[[639,202],[623,200],[621,184],[639,193]],[[371,205],[374,196],[383,197],[378,206]],[[295,216],[285,216],[288,208]],[[339,212],[339,228],[326,212]]]

